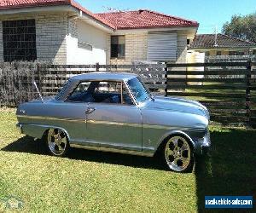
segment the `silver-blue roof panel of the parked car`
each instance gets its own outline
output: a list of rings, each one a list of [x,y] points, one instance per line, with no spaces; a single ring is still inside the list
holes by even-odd
[[[137,78],[136,74],[128,72],[89,72],[86,74],[81,74],[71,78],[75,81],[85,81],[85,80],[106,80],[106,81],[122,81],[129,80],[131,78]]]

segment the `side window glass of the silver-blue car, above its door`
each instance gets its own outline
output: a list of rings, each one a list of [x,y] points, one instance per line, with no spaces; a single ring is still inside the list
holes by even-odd
[[[67,101],[112,103],[131,105],[132,101],[124,83],[113,81],[91,81],[79,83]]]

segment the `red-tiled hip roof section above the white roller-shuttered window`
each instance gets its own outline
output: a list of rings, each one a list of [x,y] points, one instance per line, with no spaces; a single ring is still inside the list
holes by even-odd
[[[156,27],[199,26],[196,21],[185,20],[150,10],[137,10],[98,14],[117,29],[137,29]]]

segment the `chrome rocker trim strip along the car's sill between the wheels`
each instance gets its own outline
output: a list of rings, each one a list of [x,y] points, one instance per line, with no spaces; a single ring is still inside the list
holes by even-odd
[[[118,149],[118,148],[108,148],[108,147],[91,147],[86,145],[79,145],[79,144],[70,144],[70,147],[73,148],[83,148],[88,150],[95,150],[95,151],[102,151],[102,152],[109,152],[109,153],[122,153],[122,154],[131,154],[131,155],[138,155],[138,156],[145,156],[145,157],[153,157],[154,153],[143,153],[133,150],[125,150],[125,149]]]

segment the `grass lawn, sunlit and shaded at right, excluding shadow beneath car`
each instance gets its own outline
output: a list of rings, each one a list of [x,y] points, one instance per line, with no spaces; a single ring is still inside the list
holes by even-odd
[[[256,198],[255,130],[212,126],[212,152],[177,174],[154,158],[75,149],[51,157],[15,123],[14,110],[0,109],[0,200],[19,198],[24,212],[197,212],[205,195]]]

